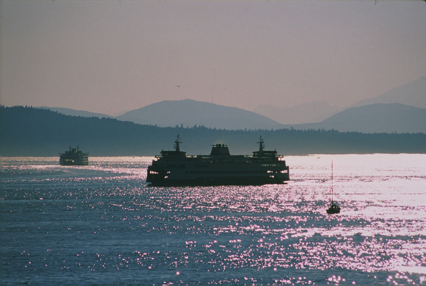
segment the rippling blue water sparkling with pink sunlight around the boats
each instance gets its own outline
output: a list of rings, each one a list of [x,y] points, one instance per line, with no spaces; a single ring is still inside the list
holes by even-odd
[[[4,159],[4,283],[426,285],[426,155],[287,157],[261,187],[147,187],[151,160]]]

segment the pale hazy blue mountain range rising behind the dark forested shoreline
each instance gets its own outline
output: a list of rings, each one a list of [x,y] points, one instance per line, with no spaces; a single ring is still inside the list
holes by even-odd
[[[116,118],[160,127],[243,129],[326,129],[364,133],[426,132],[426,80],[417,79],[378,97],[361,100],[348,108],[327,101],[277,108],[260,105],[256,112],[195,100],[166,100],[112,117],[64,108],[50,109],[65,115]],[[279,122],[277,122],[279,121]],[[291,124],[282,124],[291,122]]]

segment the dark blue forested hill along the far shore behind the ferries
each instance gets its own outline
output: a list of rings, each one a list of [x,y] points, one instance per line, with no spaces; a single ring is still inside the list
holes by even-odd
[[[266,149],[282,155],[426,153],[426,134],[364,134],[334,130],[219,130],[194,126],[160,128],[110,118],[76,117],[23,106],[2,107],[1,155],[58,156],[69,145],[89,156],[154,156],[173,150],[181,135],[188,155],[209,154],[210,145],[227,144],[231,154],[251,155],[259,136]]]

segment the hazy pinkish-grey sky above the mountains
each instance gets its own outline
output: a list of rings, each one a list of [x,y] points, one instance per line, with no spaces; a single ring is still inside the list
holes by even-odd
[[[347,106],[426,76],[423,1],[4,1],[2,102]]]

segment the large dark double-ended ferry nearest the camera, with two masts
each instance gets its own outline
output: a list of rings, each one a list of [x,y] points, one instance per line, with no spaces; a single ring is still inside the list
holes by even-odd
[[[161,151],[148,167],[147,183],[152,186],[220,186],[285,184],[289,167],[282,155],[264,150],[262,136],[259,151],[253,156],[231,155],[228,145],[212,145],[210,155],[187,156],[180,150],[179,135],[174,151]]]

